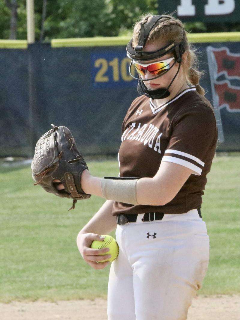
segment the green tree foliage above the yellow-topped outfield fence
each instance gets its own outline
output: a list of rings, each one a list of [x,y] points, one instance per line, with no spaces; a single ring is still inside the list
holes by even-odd
[[[27,38],[26,0],[17,2],[16,38]],[[0,0],[0,38],[11,35],[12,0]],[[44,41],[52,38],[118,36],[131,33],[140,15],[158,13],[157,0],[45,0]],[[7,5],[8,4],[8,5]],[[43,0],[35,0],[36,40],[41,34]],[[240,31],[240,24],[186,23],[191,32]]]

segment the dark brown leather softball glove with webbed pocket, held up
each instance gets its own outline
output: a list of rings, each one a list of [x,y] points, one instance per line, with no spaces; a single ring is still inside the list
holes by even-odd
[[[39,184],[47,192],[72,198],[71,210],[77,200],[91,196],[81,188],[81,175],[88,167],[70,130],[64,126],[52,126],[53,129],[37,141],[31,165],[32,177],[36,181],[34,185]],[[64,188],[58,190],[58,185],[63,185]]]

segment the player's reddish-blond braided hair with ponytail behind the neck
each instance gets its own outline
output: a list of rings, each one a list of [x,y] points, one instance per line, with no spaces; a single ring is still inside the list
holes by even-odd
[[[153,15],[147,13],[140,17],[134,26],[133,30],[133,43],[135,48],[138,44],[140,36],[140,23],[148,22],[152,19]],[[189,85],[195,85],[198,93],[205,95],[205,90],[199,85],[204,71],[198,69],[198,59],[196,56],[196,49],[193,48],[187,40],[187,31],[184,29],[184,25],[181,20],[174,18],[171,14],[163,14],[162,19],[159,20],[154,28],[150,31],[146,44],[153,44],[160,42],[162,46],[165,46],[173,41],[181,42],[183,40],[185,44],[185,51],[187,52],[187,58],[182,63],[183,74]]]

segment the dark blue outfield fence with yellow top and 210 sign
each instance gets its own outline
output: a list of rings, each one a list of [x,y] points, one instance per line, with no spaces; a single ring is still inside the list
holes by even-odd
[[[200,84],[215,108],[218,152],[240,151],[240,33],[191,34]],[[50,124],[70,128],[85,155],[117,154],[121,123],[138,96],[127,37],[0,40],[0,156],[32,157]]]

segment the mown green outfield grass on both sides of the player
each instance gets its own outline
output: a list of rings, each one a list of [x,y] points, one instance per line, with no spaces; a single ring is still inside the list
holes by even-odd
[[[118,175],[117,161],[91,161],[89,168]],[[200,294],[240,293],[239,180],[240,156],[214,158],[202,206],[211,258]],[[104,200],[92,196],[68,212],[71,200],[34,187],[29,167],[2,169],[0,185],[0,301],[106,297],[109,267],[90,268],[76,246]]]

